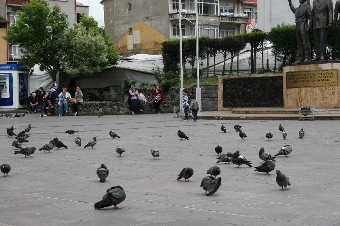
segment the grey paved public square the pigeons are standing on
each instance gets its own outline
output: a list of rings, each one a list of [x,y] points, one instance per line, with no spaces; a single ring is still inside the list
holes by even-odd
[[[340,225],[340,164],[338,121],[222,121],[184,122],[173,114],[0,118],[1,162],[11,165],[0,177],[0,225]],[[29,142],[34,158],[14,155],[6,128],[18,134],[32,124]],[[227,133],[220,130],[223,124]],[[233,126],[242,125],[241,140]],[[288,133],[284,140],[279,124]],[[299,139],[303,128],[305,136]],[[79,131],[70,136],[64,131]],[[189,140],[180,140],[181,129]],[[111,138],[114,131],[121,139]],[[272,140],[265,134],[273,133]],[[94,149],[84,145],[97,138]],[[58,137],[68,149],[39,151]],[[75,137],[82,138],[76,146]],[[271,175],[255,172],[260,147],[272,156],[281,147],[293,148],[290,158],[277,157],[276,169],[289,175],[291,186],[280,191]],[[118,157],[116,146],[126,152]],[[215,146],[240,153],[253,167],[216,163]],[[150,150],[157,148],[154,160]],[[104,163],[110,174],[98,182],[96,169]],[[217,165],[219,190],[205,196],[200,187],[207,170]],[[192,167],[191,182],[176,180],[184,167]],[[94,209],[111,186],[126,193],[120,210]]]

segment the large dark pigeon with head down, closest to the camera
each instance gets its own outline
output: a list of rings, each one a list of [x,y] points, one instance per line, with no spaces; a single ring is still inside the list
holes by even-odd
[[[107,194],[103,196],[103,200],[94,204],[95,209],[101,209],[108,206],[115,206],[114,209],[120,209],[116,207],[119,203],[125,200],[125,192],[121,186],[114,186],[108,189]]]

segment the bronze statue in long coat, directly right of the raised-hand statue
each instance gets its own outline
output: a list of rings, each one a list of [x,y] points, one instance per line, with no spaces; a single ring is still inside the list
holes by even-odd
[[[333,23],[332,0],[314,0],[311,28],[314,30],[316,55],[313,60],[325,60],[327,29]]]

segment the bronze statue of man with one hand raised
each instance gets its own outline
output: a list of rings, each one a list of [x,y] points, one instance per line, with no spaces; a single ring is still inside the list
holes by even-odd
[[[340,1],[340,0],[339,0]],[[311,60],[311,46],[309,40],[308,21],[312,20],[312,7],[306,4],[306,0],[299,0],[300,6],[294,8],[291,0],[288,0],[289,7],[295,13],[295,34],[298,48],[298,59],[293,64]]]

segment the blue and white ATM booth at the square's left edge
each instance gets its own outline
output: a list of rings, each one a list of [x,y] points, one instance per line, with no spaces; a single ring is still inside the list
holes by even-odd
[[[0,64],[0,109],[26,107],[29,95],[29,67],[22,64]]]

